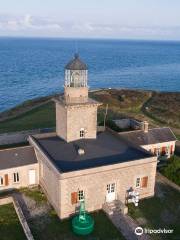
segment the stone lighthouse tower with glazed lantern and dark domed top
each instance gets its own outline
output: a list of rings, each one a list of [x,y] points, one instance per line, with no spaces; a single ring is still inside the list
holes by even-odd
[[[78,54],[65,67],[64,96],[56,102],[56,133],[67,142],[96,138],[97,108],[88,97],[88,69]]]

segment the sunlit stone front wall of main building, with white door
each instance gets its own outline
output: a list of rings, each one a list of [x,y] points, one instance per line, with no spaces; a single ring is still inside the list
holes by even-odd
[[[77,204],[71,203],[71,193],[83,190],[85,193],[86,209],[95,211],[101,209],[106,202],[107,184],[115,183],[116,199],[125,203],[127,190],[136,189],[136,178],[148,177],[145,188],[136,189],[140,198],[154,195],[156,158],[125,162],[95,169],[86,169],[64,173],[60,179],[61,207],[60,218],[74,214]]]

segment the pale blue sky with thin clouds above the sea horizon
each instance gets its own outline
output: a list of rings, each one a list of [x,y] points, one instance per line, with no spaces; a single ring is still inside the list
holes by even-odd
[[[0,0],[0,36],[180,40],[180,0]]]

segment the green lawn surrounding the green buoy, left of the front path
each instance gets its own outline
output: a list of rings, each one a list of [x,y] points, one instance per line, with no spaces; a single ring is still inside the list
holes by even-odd
[[[52,210],[48,217],[37,217],[30,221],[30,228],[35,240],[123,240],[124,237],[102,212],[92,214],[95,220],[95,229],[92,234],[86,237],[76,236],[72,232],[71,219],[60,221]],[[125,240],[125,239],[124,239]]]

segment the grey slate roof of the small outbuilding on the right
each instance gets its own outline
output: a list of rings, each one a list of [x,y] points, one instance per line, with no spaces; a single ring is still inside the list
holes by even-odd
[[[149,145],[163,142],[176,141],[176,137],[168,127],[152,128],[147,133],[143,130],[135,130],[119,134],[126,140],[137,145]]]

